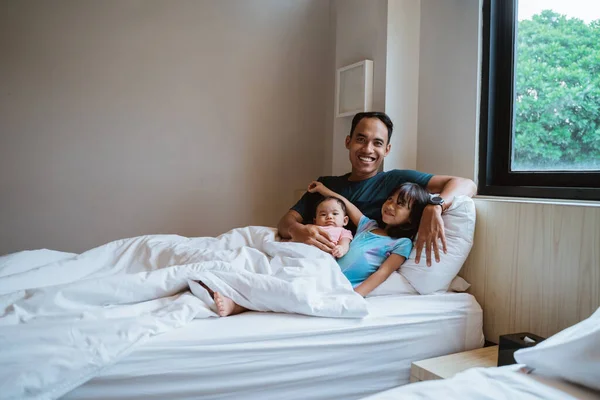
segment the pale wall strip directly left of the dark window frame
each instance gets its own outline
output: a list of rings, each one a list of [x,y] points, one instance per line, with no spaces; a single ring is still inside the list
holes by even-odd
[[[473,179],[479,1],[421,0],[417,169]]]

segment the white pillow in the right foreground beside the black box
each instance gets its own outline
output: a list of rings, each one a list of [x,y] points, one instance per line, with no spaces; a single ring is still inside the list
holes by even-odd
[[[516,351],[515,360],[542,375],[600,390],[600,308],[540,344]]]

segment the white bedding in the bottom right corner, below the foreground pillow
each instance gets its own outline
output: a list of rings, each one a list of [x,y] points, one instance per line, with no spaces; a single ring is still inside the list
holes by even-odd
[[[518,372],[523,365],[473,368],[451,379],[413,383],[363,400],[592,400],[600,393]]]

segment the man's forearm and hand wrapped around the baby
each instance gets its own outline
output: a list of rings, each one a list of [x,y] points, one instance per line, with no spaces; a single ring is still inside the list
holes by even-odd
[[[279,236],[292,242],[310,244],[331,253],[335,244],[329,240],[327,232],[316,225],[302,224],[303,218],[295,210],[289,210],[277,224]]]

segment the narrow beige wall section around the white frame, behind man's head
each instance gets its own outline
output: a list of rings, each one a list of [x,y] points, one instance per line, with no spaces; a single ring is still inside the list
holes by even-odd
[[[373,60],[373,110],[394,121],[384,169],[416,168],[421,0],[334,0],[335,67]],[[344,140],[352,117],[333,121],[332,174],[350,171]]]

